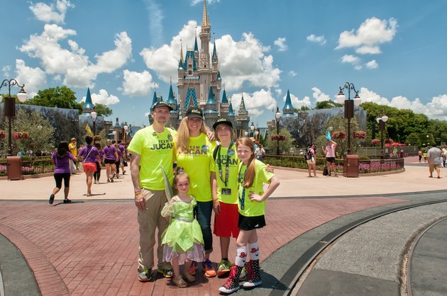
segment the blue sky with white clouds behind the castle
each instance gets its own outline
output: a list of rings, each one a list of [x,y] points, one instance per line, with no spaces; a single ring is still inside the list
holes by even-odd
[[[180,44],[184,52],[194,45],[204,1],[0,4],[2,79],[17,78],[31,96],[69,86],[78,101],[90,87],[94,103],[114,110],[110,120],[148,125],[154,87],[167,98],[172,76],[177,91]],[[362,101],[446,119],[445,0],[206,4],[226,92],[236,112],[243,92],[259,127],[273,118],[277,104],[283,108],[287,89],[294,107],[314,107],[333,100],[346,81]]]

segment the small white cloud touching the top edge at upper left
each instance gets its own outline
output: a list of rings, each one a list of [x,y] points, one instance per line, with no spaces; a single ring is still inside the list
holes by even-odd
[[[69,0],[57,0],[56,5],[48,5],[43,2],[38,2],[29,6],[35,17],[39,21],[43,21],[45,23],[64,23],[67,9],[74,7],[75,5],[70,3]]]

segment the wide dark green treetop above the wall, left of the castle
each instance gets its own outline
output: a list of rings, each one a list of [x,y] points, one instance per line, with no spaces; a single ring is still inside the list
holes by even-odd
[[[26,101],[26,105],[56,107],[65,109],[77,109],[82,112],[82,104],[77,103],[75,92],[67,86],[57,86],[55,88],[38,91],[37,96]]]

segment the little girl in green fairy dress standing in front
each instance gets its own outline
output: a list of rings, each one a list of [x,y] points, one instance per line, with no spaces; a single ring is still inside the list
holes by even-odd
[[[174,269],[172,282],[180,288],[185,288],[187,282],[193,283],[196,278],[187,272],[180,275],[180,254],[185,254],[184,266],[189,266],[191,261],[203,261],[204,239],[199,222],[194,219],[194,207],[197,202],[192,195],[187,193],[189,176],[182,168],[177,168],[174,187],[177,189],[177,195],[165,204],[161,212],[161,215],[168,220],[170,217],[170,224],[162,234],[163,261],[172,263],[172,269]]]

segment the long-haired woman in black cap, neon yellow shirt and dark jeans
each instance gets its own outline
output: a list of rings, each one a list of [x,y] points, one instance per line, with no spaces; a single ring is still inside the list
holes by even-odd
[[[204,236],[205,260],[203,268],[205,276],[212,278],[216,271],[209,261],[213,251],[213,236],[211,234],[211,212],[213,199],[211,180],[215,179],[215,168],[212,151],[216,146],[206,136],[203,113],[200,108],[190,107],[177,130],[175,141],[177,166],[184,168],[190,178],[189,194],[197,200],[197,221]],[[195,275],[197,262],[192,261],[189,273]]]

